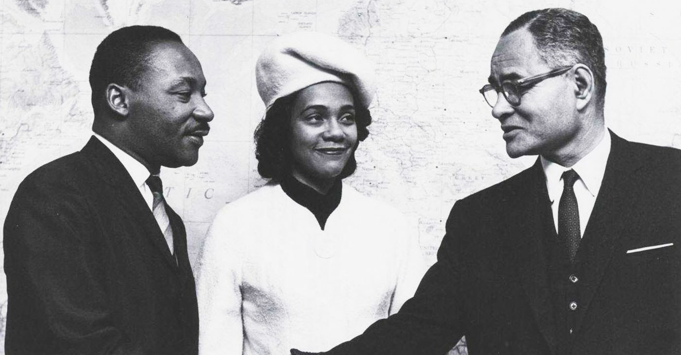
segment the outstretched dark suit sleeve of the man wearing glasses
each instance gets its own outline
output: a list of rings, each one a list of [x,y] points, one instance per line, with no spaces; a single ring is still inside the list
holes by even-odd
[[[462,307],[462,260],[459,240],[465,230],[460,204],[454,205],[437,262],[422,279],[413,298],[398,313],[329,352],[330,355],[446,354],[465,332]]]

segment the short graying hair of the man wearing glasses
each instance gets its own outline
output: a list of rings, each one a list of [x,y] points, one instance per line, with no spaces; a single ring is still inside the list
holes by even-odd
[[[595,76],[597,104],[605,104],[605,51],[596,25],[579,12],[551,8],[526,12],[511,22],[501,36],[525,28],[535,38],[539,57],[553,67],[582,63]]]

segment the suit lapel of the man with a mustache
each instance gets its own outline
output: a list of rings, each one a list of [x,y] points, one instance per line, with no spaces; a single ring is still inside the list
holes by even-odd
[[[153,213],[149,210],[146,202],[144,202],[139,189],[133,182],[130,174],[125,170],[123,164],[121,164],[121,161],[118,161],[116,155],[95,137],[90,138],[81,152],[97,168],[100,176],[112,189],[112,194],[116,196],[121,204],[127,207],[128,217],[142,227],[144,234],[151,240],[156,249],[163,254],[163,258],[168,262],[169,266],[177,268],[177,264],[172,254],[170,254],[170,249],[168,249],[168,244],[163,237],[163,232],[161,232]],[[182,222],[180,221],[180,223]],[[184,227],[182,231],[184,232]]]

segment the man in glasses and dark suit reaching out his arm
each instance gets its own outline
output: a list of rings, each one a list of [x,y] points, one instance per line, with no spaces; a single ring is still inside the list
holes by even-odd
[[[324,354],[681,354],[681,152],[607,132],[595,25],[523,14],[481,93],[536,164],[456,202],[415,296]]]

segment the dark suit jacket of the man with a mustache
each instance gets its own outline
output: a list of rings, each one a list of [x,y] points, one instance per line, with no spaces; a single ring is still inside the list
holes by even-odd
[[[127,170],[96,138],[31,173],[4,229],[5,352],[195,354],[182,220],[177,264]]]

